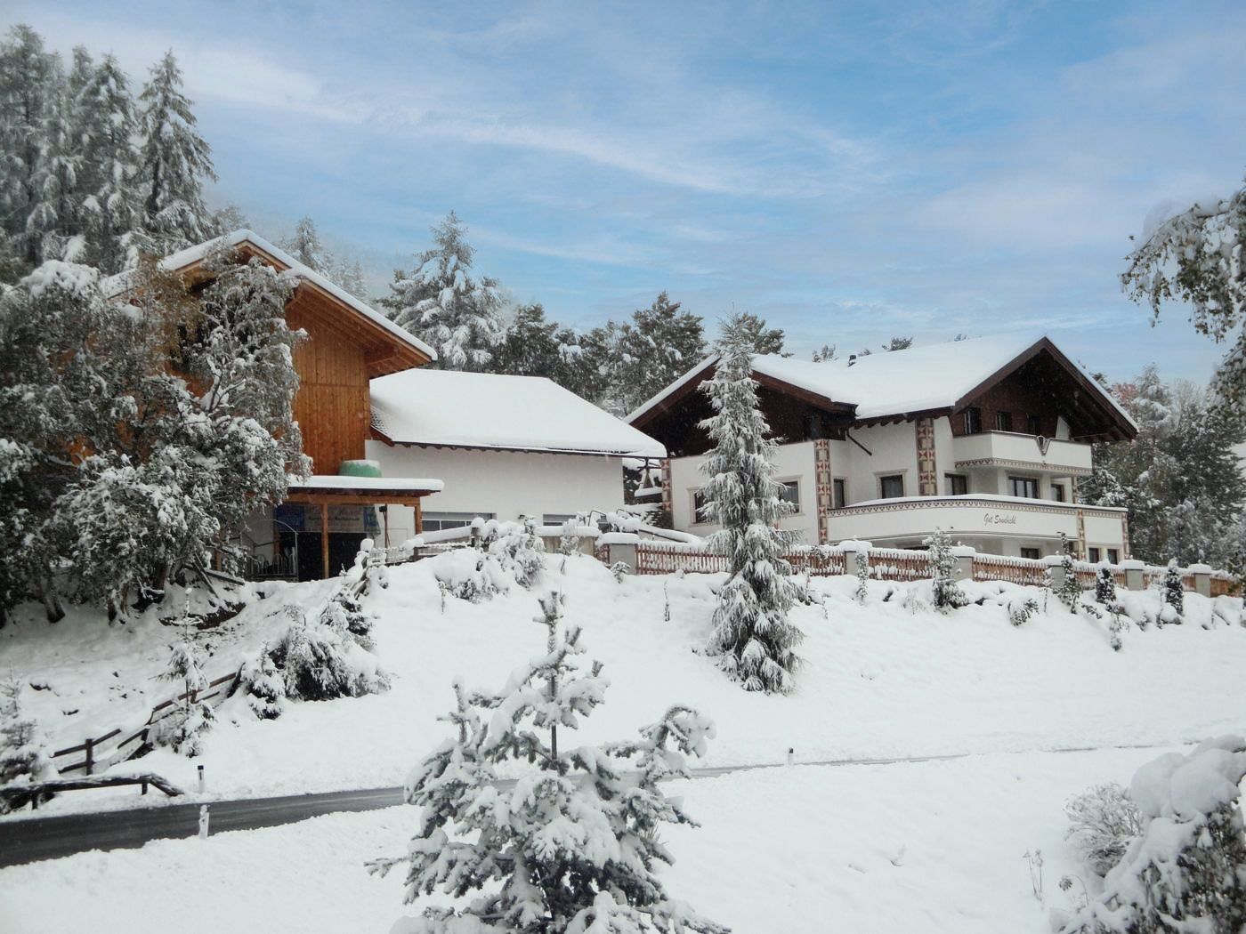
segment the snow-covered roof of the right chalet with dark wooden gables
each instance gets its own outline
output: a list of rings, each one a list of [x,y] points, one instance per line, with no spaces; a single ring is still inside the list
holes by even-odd
[[[1003,375],[1018,361],[1042,350],[1050,351],[1059,362],[1079,374],[1128,425],[1129,413],[1105,391],[1085,369],[1060,351],[1044,335],[1011,334],[971,337],[946,344],[927,344],[907,350],[891,350],[847,359],[812,362],[773,354],[753,360],[755,376],[795,387],[826,402],[846,403],[856,418],[871,420],[956,408],[976,390]],[[689,384],[699,382],[718,361],[706,357],[675,382],[627,416],[633,425],[662,402],[680,395]]]

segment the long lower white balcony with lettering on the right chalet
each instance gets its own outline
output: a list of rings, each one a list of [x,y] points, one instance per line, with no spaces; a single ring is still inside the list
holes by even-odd
[[[1124,509],[977,493],[871,499],[832,509],[830,540],[917,544],[942,529],[967,544],[981,539],[1054,542],[1060,533],[1075,542],[1079,513],[1088,542],[1121,547]]]

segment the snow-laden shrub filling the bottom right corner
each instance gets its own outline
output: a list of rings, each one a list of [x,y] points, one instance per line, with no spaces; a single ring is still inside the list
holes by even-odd
[[[1138,770],[1130,797],[1141,832],[1103,894],[1065,934],[1240,934],[1246,927],[1246,827],[1239,785],[1246,738],[1222,736]]]

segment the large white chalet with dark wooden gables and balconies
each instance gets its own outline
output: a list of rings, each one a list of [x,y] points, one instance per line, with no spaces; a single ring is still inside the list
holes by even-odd
[[[628,416],[665,445],[662,502],[705,534],[710,415],[698,364]],[[776,478],[806,543],[918,547],[936,529],[994,554],[1053,554],[1064,533],[1090,560],[1129,557],[1125,511],[1082,506],[1090,445],[1136,435],[1111,396],[1047,337],[997,336],[807,362],[758,356],[753,376],[780,440]]]

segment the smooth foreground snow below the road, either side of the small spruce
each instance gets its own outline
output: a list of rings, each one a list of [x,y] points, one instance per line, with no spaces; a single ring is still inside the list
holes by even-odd
[[[703,826],[663,831],[677,862],[662,877],[740,934],[1040,934],[1082,884],[1094,890],[1063,839],[1064,801],[1128,785],[1156,755],[988,753],[678,782],[670,792]],[[90,918],[97,934],[385,932],[415,912],[401,904],[400,870],[379,879],[363,863],[401,853],[415,823],[415,808],[396,807],[0,869],[0,929],[59,934]],[[1034,849],[1042,902],[1023,858]],[[1067,873],[1082,880],[1068,893]]]

